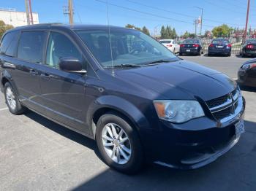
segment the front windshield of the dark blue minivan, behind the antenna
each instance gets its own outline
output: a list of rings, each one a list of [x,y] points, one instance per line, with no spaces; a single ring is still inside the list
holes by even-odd
[[[112,58],[113,66],[145,66],[180,60],[150,36],[133,29],[110,28],[110,35],[108,28],[75,32],[106,68],[112,66]]]

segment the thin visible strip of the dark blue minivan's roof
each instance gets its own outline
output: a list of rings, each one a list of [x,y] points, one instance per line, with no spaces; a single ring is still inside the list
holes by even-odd
[[[59,29],[69,29],[69,30],[88,30],[88,29],[108,29],[108,28],[124,28],[119,26],[104,26],[104,25],[81,25],[81,24],[62,24],[62,23],[43,23],[43,24],[36,24],[30,26],[18,26],[16,28],[12,28],[9,31],[22,31],[22,30],[40,30],[40,29],[51,29],[51,28],[59,28]],[[134,30],[132,28],[127,28]]]

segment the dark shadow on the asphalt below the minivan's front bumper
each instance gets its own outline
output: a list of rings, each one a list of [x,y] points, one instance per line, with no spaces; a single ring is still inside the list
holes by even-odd
[[[245,123],[246,133],[238,144],[203,168],[179,171],[151,165],[134,176],[108,169],[73,190],[254,190],[256,162],[248,161],[256,155],[256,122]]]

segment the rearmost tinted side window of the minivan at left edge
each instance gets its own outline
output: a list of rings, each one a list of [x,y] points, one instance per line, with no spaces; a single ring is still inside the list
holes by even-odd
[[[14,57],[17,50],[17,44],[18,31],[5,34],[3,40],[1,41],[0,54]]]

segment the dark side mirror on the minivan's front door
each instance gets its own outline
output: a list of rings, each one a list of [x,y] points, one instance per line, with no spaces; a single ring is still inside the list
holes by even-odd
[[[73,57],[61,58],[59,61],[59,69],[78,74],[86,74],[86,70],[83,70],[82,63],[78,60],[78,58]]]

